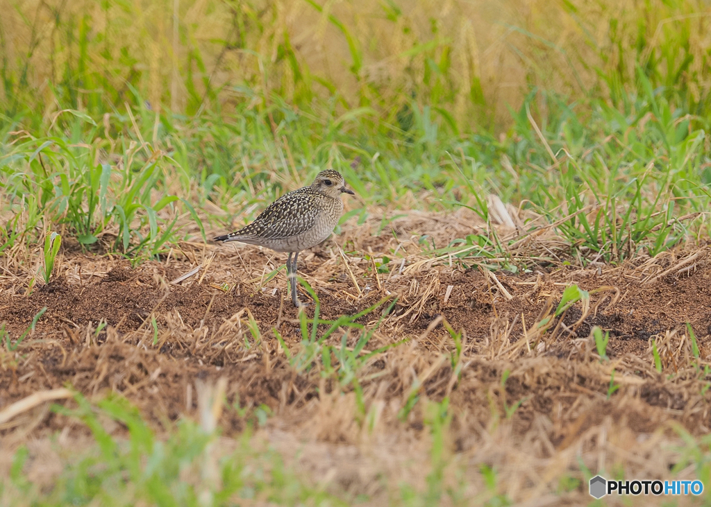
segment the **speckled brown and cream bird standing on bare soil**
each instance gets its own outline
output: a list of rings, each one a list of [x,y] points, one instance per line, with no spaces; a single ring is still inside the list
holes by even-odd
[[[239,231],[217,236],[213,241],[241,241],[289,252],[287,277],[292,302],[303,304],[296,296],[296,259],[299,252],[324,241],[333,232],[343,214],[341,194],[351,194],[341,173],[323,170],[308,187],[282,195],[264,209],[254,222]]]

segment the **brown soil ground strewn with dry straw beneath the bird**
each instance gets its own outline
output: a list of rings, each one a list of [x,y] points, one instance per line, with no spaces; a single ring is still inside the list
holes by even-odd
[[[275,489],[274,460],[336,503],[421,495],[572,506],[589,503],[590,471],[696,479],[711,427],[711,248],[583,269],[531,235],[520,251],[547,260],[518,273],[417,253],[422,236],[449,244],[472,223],[417,212],[382,234],[377,222],[344,224],[299,259],[319,298],[305,318],[284,271],[272,276],[284,255],[252,246],[183,243],[132,267],[67,242],[48,285],[28,290],[31,273],[5,271],[0,322],[11,340],[47,310],[0,353],[0,475],[21,444],[39,485],[55,484],[77,447],[92,452],[87,425],[50,403],[2,419],[11,403],[70,385],[92,403],[126,398],[159,435],[178,420],[222,428],[203,479],[209,463],[242,449],[257,453],[252,472],[272,459],[263,466]],[[559,318],[572,284],[588,293]],[[317,308],[323,322],[311,334]],[[609,332],[602,349],[594,326]],[[119,440],[134,430],[126,418],[100,420]],[[240,491],[250,505],[274,500]]]

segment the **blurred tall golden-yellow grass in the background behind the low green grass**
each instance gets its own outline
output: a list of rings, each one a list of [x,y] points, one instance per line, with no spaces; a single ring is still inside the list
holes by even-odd
[[[79,88],[77,109],[91,109],[91,92],[104,104],[131,100],[128,83],[173,111],[203,99],[269,101],[234,88],[247,84],[297,103],[330,88],[391,121],[415,97],[464,129],[509,124],[507,104],[518,108],[531,86],[619,98],[635,88],[638,64],[695,100],[711,84],[702,0],[327,1],[321,12],[304,0],[1,0],[0,9],[0,96],[41,100],[46,114],[58,107],[52,87],[67,98],[68,86]],[[677,72],[681,45],[693,60],[665,76],[665,62]],[[538,106],[545,113],[545,100]]]

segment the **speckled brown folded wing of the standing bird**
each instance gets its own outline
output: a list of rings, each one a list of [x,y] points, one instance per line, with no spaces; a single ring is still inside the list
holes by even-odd
[[[306,189],[294,190],[279,197],[264,209],[254,222],[232,233],[235,239],[240,236],[285,239],[298,236],[314,227],[321,211],[318,197],[304,190]]]

